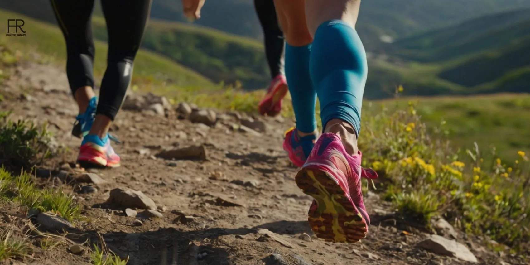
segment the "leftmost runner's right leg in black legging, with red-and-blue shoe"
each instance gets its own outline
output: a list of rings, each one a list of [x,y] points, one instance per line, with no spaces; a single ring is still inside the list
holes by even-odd
[[[152,0],[102,0],[109,50],[101,82],[94,124],[83,139],[78,160],[101,166],[118,166],[119,156],[109,143],[111,122],[121,107],[133,74],[133,63],[151,12]]]

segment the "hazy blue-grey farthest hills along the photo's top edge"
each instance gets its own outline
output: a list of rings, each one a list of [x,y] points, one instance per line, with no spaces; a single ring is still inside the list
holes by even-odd
[[[367,44],[368,50],[378,50],[383,34],[394,38],[405,37],[414,32],[441,25],[461,22],[472,17],[530,6],[529,0],[370,0],[361,1],[361,13],[357,30]],[[53,21],[47,0],[24,1],[0,0],[0,8],[28,14],[38,19]],[[96,7],[96,13],[100,8]],[[154,19],[186,22],[181,3],[173,0],[154,0]],[[228,33],[262,38],[262,31],[255,15],[253,1],[207,0],[202,18],[194,24],[218,29]]]

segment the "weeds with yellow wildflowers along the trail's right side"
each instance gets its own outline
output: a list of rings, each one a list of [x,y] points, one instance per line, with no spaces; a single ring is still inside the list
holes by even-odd
[[[408,110],[364,119],[360,149],[364,166],[382,176],[386,200],[403,217],[429,226],[443,216],[467,233],[488,235],[514,252],[528,248],[530,193],[528,157],[518,152],[515,167],[500,158],[484,161],[479,146],[453,152],[428,128],[410,104]],[[437,131],[437,130],[431,130]]]

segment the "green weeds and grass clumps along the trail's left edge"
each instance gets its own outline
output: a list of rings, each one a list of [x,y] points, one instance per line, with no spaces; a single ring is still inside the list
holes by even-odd
[[[0,113],[0,205],[16,207],[21,213],[27,209],[50,211],[70,222],[80,219],[80,208],[74,197],[62,189],[40,189],[29,171],[31,166],[50,157],[48,148],[50,135],[45,128],[38,129],[30,122],[13,122],[7,119],[8,113]],[[22,169],[13,174],[10,169]],[[24,171],[25,170],[25,171]],[[22,222],[22,225],[25,224]],[[31,253],[32,242],[43,250],[61,244],[52,238],[30,238],[24,231],[27,226],[15,224],[0,225],[0,261],[23,258]],[[30,228],[31,229],[31,228]],[[95,265],[126,264],[116,254],[107,249],[95,248],[92,253]]]

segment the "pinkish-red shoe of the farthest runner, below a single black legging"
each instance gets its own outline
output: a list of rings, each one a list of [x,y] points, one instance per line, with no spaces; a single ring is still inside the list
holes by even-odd
[[[289,91],[284,75],[277,75],[271,82],[267,95],[258,105],[261,115],[275,117],[281,112],[281,101]]]

